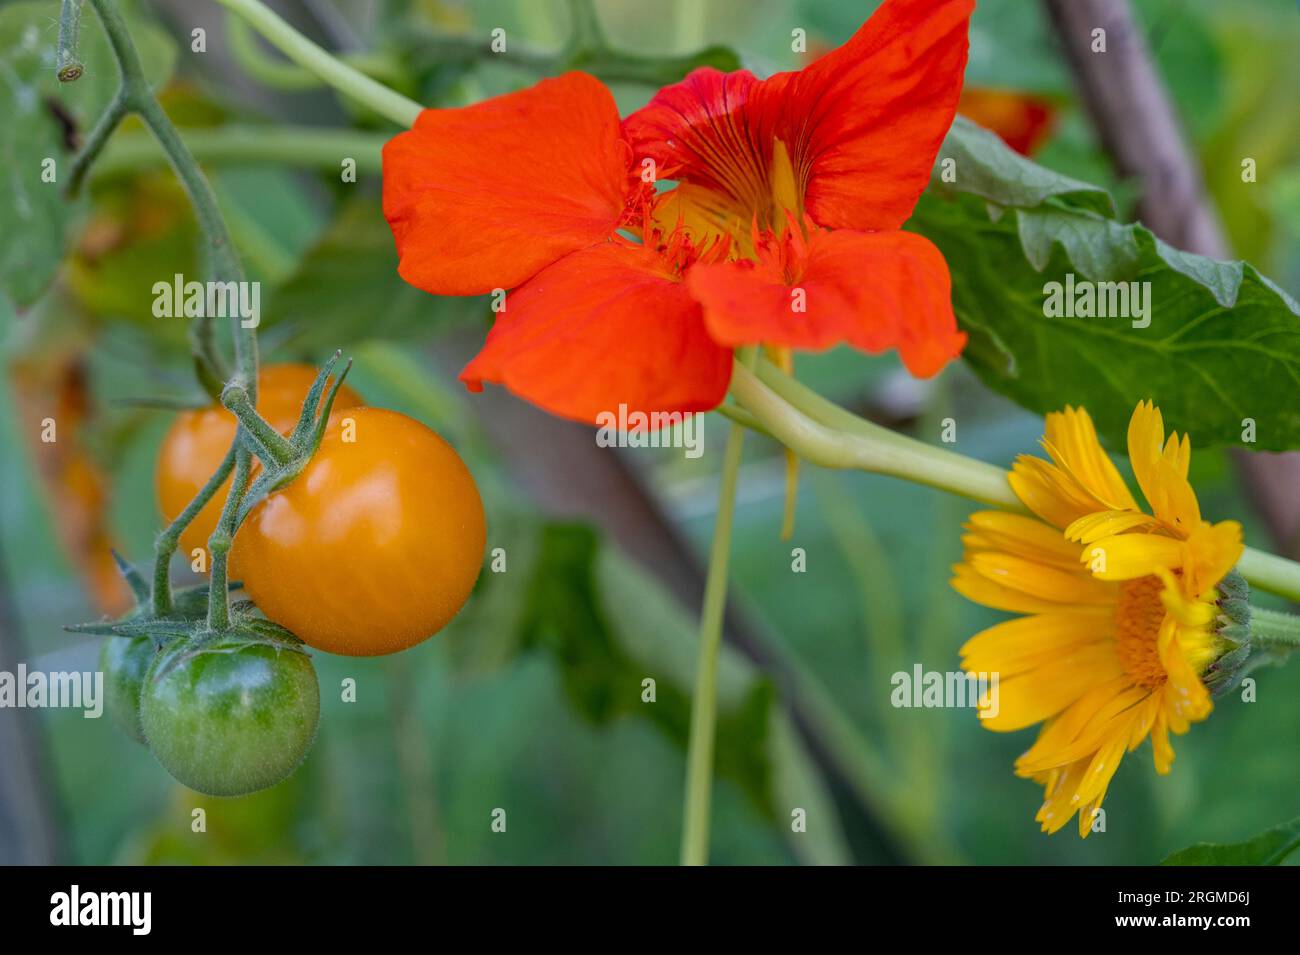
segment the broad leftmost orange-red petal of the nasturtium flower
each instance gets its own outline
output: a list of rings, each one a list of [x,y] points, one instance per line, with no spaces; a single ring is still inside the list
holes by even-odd
[[[614,96],[585,73],[425,109],[384,147],[398,272],[437,295],[512,288],[619,229],[630,164]]]

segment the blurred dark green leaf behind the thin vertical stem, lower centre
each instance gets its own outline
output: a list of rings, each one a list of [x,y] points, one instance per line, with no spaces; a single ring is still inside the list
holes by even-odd
[[[601,547],[586,525],[543,526],[534,568],[521,647],[555,656],[569,700],[590,722],[646,719],[685,748],[697,635],[676,600]],[[646,678],[654,680],[654,702],[642,699]],[[805,861],[849,861],[835,804],[775,687],[727,647],[719,659],[715,752],[718,774],[779,829],[790,832],[794,808],[816,820],[789,839]]]

